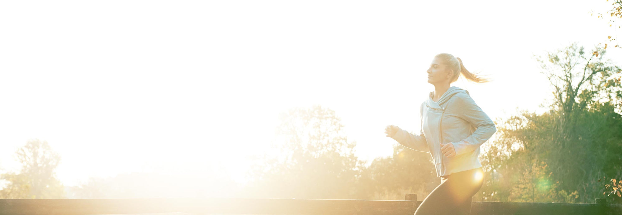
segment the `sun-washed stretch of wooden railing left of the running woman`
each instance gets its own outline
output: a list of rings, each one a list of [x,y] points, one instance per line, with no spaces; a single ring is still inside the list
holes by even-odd
[[[326,214],[412,215],[420,201],[253,198],[2,199],[0,214]]]

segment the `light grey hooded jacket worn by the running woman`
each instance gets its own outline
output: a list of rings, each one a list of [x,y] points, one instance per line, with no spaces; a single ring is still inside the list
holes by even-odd
[[[429,152],[437,177],[481,167],[480,145],[497,131],[493,121],[471,99],[468,91],[460,87],[449,87],[439,102],[434,102],[432,95],[434,92],[430,92],[419,108],[420,134],[399,129],[391,138],[415,151]],[[445,156],[440,142],[452,143],[456,156]]]

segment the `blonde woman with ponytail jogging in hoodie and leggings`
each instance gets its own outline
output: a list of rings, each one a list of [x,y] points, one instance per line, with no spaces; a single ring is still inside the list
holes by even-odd
[[[450,85],[462,74],[473,82],[488,82],[447,53],[434,57],[427,70],[428,82],[434,85],[419,108],[419,135],[389,125],[384,133],[402,146],[429,152],[441,183],[419,205],[415,215],[470,214],[471,198],[483,183],[483,169],[478,160],[480,145],[495,132],[496,126],[467,90]]]

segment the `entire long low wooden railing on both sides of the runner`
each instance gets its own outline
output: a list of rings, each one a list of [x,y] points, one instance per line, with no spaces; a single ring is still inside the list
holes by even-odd
[[[518,203],[474,201],[471,214],[622,214],[622,204]],[[0,199],[0,214],[82,215],[139,213],[213,214],[348,214],[412,215],[421,201],[313,200],[259,198],[144,198],[144,199]]]

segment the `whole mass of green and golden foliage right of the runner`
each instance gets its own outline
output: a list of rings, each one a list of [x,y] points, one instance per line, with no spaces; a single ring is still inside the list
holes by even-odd
[[[550,110],[522,111],[499,123],[483,156],[485,178],[496,180],[485,183],[483,198],[592,203],[600,190],[593,178],[620,173],[621,90],[611,81],[620,68],[604,53],[573,43],[536,57],[554,89]]]

